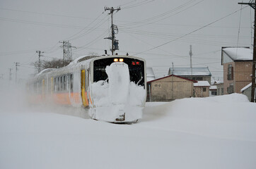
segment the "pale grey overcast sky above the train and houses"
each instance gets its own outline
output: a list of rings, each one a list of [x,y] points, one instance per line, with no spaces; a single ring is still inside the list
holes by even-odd
[[[242,0],[241,0],[242,1]],[[70,40],[73,58],[90,53],[110,54],[110,15],[104,7],[121,7],[114,15],[119,32],[118,54],[145,58],[157,77],[168,68],[209,67],[223,78],[221,46],[252,46],[250,6],[237,0],[0,0],[0,75],[19,62],[18,77],[35,70],[37,50],[42,59],[62,58],[59,41]],[[248,0],[249,1],[249,0]],[[244,1],[244,2],[248,2]],[[235,12],[236,11],[236,12]],[[0,76],[1,77],[1,76]]]

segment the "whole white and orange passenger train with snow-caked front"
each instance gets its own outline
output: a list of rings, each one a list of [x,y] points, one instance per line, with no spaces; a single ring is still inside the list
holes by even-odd
[[[88,109],[95,120],[133,123],[146,101],[146,62],[134,56],[81,56],[28,81],[30,103]]]

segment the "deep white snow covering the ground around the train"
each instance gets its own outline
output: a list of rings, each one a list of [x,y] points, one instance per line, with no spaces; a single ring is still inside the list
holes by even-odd
[[[147,103],[139,123],[115,125],[0,87],[3,169],[256,168],[256,104],[242,94]]]

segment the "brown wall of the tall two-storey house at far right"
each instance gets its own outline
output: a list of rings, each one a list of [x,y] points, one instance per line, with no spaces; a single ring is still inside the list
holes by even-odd
[[[233,66],[233,80],[228,80],[228,65]],[[228,94],[228,87],[233,84],[233,92],[241,93],[240,90],[251,82],[252,62],[231,62],[223,64],[223,88],[224,94]]]

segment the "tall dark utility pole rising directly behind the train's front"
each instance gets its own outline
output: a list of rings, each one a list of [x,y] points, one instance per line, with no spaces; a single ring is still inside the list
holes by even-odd
[[[110,39],[112,41],[112,47],[111,47],[112,55],[114,55],[115,50],[118,50],[118,40],[115,39],[115,30],[117,30],[117,32],[118,32],[118,28],[117,28],[117,25],[113,24],[113,13],[114,13],[114,11],[120,11],[120,10],[121,10],[120,7],[118,7],[118,8],[105,7],[105,11],[110,11],[110,13],[108,13],[108,14],[109,15],[111,14],[111,37],[106,37],[105,39]]]

